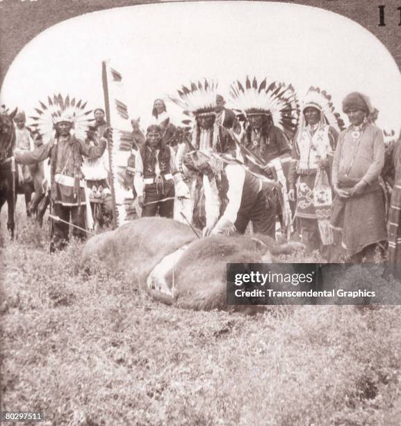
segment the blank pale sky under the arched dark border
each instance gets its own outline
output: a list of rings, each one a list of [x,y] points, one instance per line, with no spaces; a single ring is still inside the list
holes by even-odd
[[[229,84],[247,74],[291,83],[300,100],[320,86],[338,112],[347,93],[361,91],[379,109],[379,127],[397,135],[401,127],[401,74],[386,47],[350,19],[287,3],[163,3],[69,19],[19,53],[1,103],[29,116],[39,100],[61,93],[103,107],[104,59],[122,73],[130,116],[144,128],[154,99],[181,84],[217,78],[229,106]],[[167,102],[167,111],[179,124],[179,108]]]

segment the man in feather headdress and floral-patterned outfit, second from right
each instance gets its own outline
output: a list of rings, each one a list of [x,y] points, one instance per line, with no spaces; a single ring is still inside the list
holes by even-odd
[[[330,166],[343,122],[331,97],[319,88],[311,87],[302,106],[301,125],[295,135],[288,175],[290,200],[297,207],[300,218],[302,242],[306,251],[320,249],[323,257],[330,259],[329,246],[334,243],[329,219],[332,207]]]

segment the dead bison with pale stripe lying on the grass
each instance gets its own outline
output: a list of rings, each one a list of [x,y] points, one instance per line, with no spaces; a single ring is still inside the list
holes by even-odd
[[[164,303],[194,310],[227,309],[227,263],[272,262],[272,255],[293,248],[299,245],[276,244],[260,235],[198,239],[183,223],[149,217],[89,239],[82,264],[97,257]]]

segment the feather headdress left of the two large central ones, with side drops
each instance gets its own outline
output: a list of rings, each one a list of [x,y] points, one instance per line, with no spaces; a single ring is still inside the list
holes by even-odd
[[[190,83],[188,86],[181,86],[177,90],[178,96],[169,96],[169,99],[183,109],[183,113],[188,119],[182,123],[193,130],[192,141],[195,148],[199,148],[199,121],[200,117],[215,117],[216,95],[218,82],[211,79]],[[218,143],[218,123],[213,120],[213,125],[209,129],[211,136],[211,147]]]

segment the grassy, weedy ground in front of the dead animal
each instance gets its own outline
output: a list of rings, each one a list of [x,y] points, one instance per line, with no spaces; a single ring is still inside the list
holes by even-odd
[[[17,219],[10,242],[1,213],[3,411],[48,425],[401,424],[400,307],[179,310],[101,265],[83,274],[79,243],[49,255],[47,230]]]

